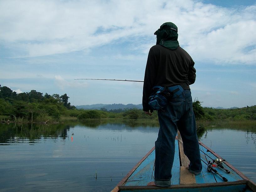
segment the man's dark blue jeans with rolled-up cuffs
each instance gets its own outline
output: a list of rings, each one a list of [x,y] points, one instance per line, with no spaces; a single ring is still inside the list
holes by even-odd
[[[155,184],[166,187],[171,185],[177,129],[183,140],[184,154],[190,161],[189,169],[195,172],[202,170],[190,90],[185,89],[178,98],[170,100],[163,110],[159,110],[158,120],[160,129],[155,142]]]

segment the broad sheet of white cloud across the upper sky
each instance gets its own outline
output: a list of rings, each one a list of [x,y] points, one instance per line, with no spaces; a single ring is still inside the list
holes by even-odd
[[[194,60],[255,65],[255,11],[191,0],[1,1],[0,41],[24,56],[43,56],[129,38],[146,54],[154,31],[172,21]]]

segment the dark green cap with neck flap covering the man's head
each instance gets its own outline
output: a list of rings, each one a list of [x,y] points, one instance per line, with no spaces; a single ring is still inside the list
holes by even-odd
[[[162,24],[154,35],[157,35],[157,45],[162,45],[171,50],[179,47],[178,27],[171,22]]]

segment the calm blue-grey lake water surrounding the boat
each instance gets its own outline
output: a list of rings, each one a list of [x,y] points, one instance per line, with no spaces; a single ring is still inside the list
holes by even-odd
[[[154,146],[158,125],[0,124],[0,191],[110,191]],[[256,182],[256,127],[205,127],[199,139]]]

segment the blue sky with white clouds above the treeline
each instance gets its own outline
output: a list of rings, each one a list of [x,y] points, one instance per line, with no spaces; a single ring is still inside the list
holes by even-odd
[[[154,32],[178,26],[195,61],[192,98],[207,107],[256,104],[256,1],[0,0],[0,84],[64,94],[72,105],[141,104]]]

